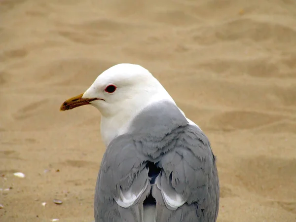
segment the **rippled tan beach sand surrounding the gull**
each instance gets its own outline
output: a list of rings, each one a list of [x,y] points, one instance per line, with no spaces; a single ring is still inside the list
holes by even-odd
[[[59,107],[125,62],[208,135],[218,222],[296,221],[295,0],[0,0],[1,222],[93,220],[100,113]]]

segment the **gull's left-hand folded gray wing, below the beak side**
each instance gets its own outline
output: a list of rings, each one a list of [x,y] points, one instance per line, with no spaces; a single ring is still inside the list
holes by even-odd
[[[147,157],[129,136],[106,149],[95,191],[96,222],[142,222],[143,201],[150,192]]]

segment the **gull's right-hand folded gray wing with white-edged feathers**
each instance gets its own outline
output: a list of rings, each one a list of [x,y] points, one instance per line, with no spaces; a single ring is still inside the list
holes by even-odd
[[[164,154],[152,187],[157,222],[215,222],[219,210],[216,159],[208,138],[188,125]]]

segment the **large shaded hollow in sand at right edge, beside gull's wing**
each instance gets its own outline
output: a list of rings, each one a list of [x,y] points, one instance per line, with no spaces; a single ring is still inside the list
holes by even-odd
[[[296,159],[256,156],[241,158],[236,166],[237,185],[259,196],[296,200]]]

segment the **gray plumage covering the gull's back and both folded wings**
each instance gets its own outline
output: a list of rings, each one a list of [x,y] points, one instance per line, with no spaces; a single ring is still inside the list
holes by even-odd
[[[148,163],[160,168],[151,183]],[[116,200],[127,191],[140,195],[130,207]],[[170,206],[165,192],[185,203]],[[219,210],[216,158],[208,138],[188,123],[176,105],[159,102],[135,117],[129,133],[111,141],[95,190],[96,222],[143,222],[143,202],[156,200],[155,222],[216,222]],[[152,216],[151,216],[152,217]]]

